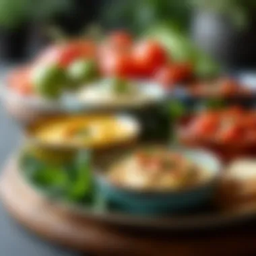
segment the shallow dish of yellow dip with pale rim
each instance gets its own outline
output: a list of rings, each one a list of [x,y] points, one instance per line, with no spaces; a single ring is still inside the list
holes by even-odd
[[[77,137],[73,141],[72,138],[66,140],[63,137],[66,130],[69,132],[69,128],[71,130],[73,128],[80,129],[80,121],[85,122],[85,124],[82,124],[82,129],[91,127],[92,132],[96,130],[96,135],[92,134],[91,136],[95,137],[94,140],[90,141],[89,138],[89,140],[85,139],[84,143],[81,143],[80,141],[83,138]],[[101,121],[102,123],[100,123]],[[107,125],[106,122],[108,122]],[[73,125],[75,126],[73,127]],[[116,130],[113,131],[110,126],[114,126],[117,132],[115,132]],[[37,148],[51,150],[108,150],[133,144],[139,136],[140,129],[138,121],[129,115],[61,115],[28,125],[25,136],[30,145],[34,145]],[[38,134],[36,135],[36,133]],[[64,135],[61,135],[62,133]]]

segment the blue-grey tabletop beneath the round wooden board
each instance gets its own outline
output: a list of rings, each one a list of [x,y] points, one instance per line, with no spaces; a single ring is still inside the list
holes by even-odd
[[[0,104],[0,165],[3,167],[11,152],[19,144],[18,126],[7,116]],[[1,256],[75,256],[81,253],[68,251],[46,243],[35,234],[22,228],[8,216],[0,203],[0,255]]]

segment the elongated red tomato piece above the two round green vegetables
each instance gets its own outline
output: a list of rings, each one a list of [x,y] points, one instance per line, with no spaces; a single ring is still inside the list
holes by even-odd
[[[78,58],[94,58],[96,46],[90,40],[77,40],[67,44],[54,45],[46,49],[37,59],[39,63],[57,63],[67,67]]]

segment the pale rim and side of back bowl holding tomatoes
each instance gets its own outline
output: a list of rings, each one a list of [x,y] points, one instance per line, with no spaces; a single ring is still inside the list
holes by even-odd
[[[147,81],[139,82],[139,91],[149,97],[135,100],[82,100],[77,92],[66,92],[58,100],[47,100],[38,96],[24,96],[9,88],[6,79],[2,79],[0,96],[9,114],[22,124],[28,124],[41,116],[60,113],[94,113],[113,110],[136,110],[149,105],[160,104],[166,98],[164,90]]]

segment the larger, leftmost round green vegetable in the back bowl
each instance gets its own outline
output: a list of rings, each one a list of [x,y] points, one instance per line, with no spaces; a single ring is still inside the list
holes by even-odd
[[[65,71],[57,65],[37,67],[32,73],[36,92],[46,98],[57,98],[67,84]]]

